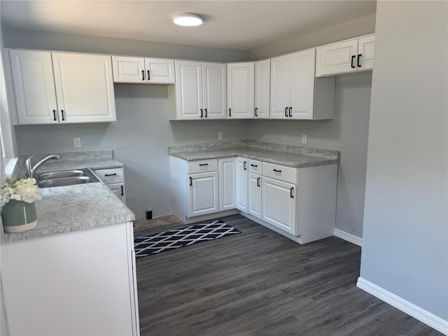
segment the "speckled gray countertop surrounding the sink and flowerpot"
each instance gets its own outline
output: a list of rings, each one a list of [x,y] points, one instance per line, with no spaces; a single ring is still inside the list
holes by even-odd
[[[38,171],[76,169],[108,169],[123,167],[123,163],[112,158],[111,151],[61,153],[62,160],[48,162]],[[42,158],[45,155],[41,155]],[[20,158],[13,177],[25,173],[26,158]],[[38,160],[38,159],[37,159]],[[99,228],[106,225],[134,221],[135,216],[123,202],[113,195],[102,182],[41,188],[36,201],[37,227],[21,233],[6,233],[1,230],[1,243],[33,239],[59,233]]]

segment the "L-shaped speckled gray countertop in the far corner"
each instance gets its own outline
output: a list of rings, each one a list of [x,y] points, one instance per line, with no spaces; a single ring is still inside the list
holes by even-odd
[[[339,162],[339,151],[269,144],[260,141],[170,146],[169,155],[188,161],[244,156],[248,159],[294,168],[331,165]]]

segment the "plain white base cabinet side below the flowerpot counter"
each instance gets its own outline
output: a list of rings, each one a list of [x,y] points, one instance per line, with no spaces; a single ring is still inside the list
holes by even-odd
[[[2,244],[10,335],[140,335],[132,231],[127,222]]]

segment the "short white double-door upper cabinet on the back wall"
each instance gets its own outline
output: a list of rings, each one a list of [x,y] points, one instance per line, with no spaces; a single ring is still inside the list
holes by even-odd
[[[174,84],[174,59],[112,56],[116,83]]]

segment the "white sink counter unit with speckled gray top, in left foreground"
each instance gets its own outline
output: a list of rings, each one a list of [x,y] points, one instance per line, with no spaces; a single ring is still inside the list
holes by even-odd
[[[119,165],[84,158],[42,171]],[[37,227],[1,235],[10,335],[139,335],[132,211],[102,182],[38,193]]]

